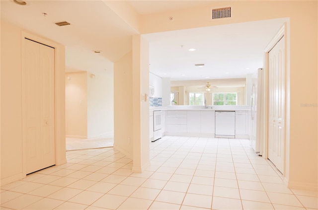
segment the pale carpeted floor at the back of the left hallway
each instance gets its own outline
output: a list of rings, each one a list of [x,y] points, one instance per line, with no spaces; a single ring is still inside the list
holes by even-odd
[[[111,147],[113,145],[114,138],[109,136],[92,139],[66,138],[66,151]]]

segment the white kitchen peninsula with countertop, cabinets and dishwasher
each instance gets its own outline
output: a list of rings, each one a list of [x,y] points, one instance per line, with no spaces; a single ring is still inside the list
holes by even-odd
[[[230,131],[223,138],[249,139],[249,106],[166,106],[162,111],[162,134],[169,136],[217,137],[218,131]],[[219,113],[224,113],[218,117]],[[216,115],[217,114],[217,115]],[[231,118],[229,115],[231,114]],[[216,117],[217,116],[217,117]],[[233,122],[224,122],[224,119]],[[224,128],[233,126],[233,128]]]

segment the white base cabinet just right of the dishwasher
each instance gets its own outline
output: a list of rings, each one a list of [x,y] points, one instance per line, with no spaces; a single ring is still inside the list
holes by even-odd
[[[235,112],[235,138],[248,139],[248,111],[240,110]]]

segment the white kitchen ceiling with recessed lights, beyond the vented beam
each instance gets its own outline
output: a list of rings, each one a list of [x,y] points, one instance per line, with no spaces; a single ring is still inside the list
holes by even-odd
[[[171,80],[240,78],[263,67],[264,49],[282,19],[144,35],[150,71]],[[188,51],[190,48],[195,51]],[[204,64],[196,67],[195,64]]]

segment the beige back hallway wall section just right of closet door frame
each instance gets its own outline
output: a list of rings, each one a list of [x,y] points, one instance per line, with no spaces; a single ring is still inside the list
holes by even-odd
[[[86,71],[65,74],[65,122],[66,137],[87,139]]]

